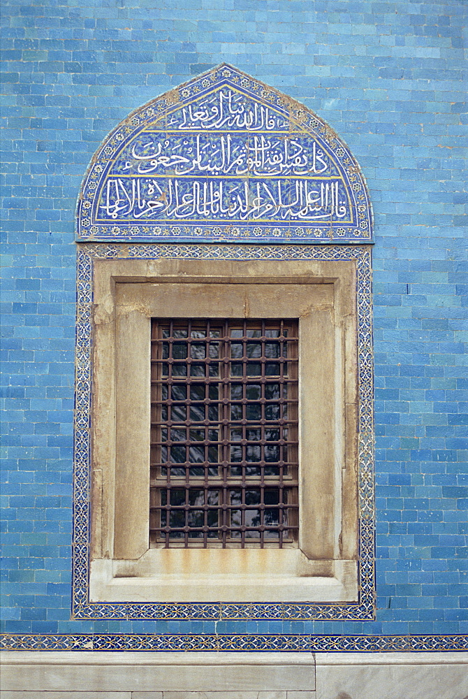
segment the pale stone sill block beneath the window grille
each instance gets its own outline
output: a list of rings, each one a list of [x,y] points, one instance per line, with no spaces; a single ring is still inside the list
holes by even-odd
[[[252,562],[249,575],[235,570],[245,561]],[[231,575],[219,572],[228,566]],[[262,567],[265,572],[256,574]],[[307,593],[311,600],[349,601],[356,597],[356,570],[356,561],[309,561],[300,549],[149,549],[138,561],[92,561],[90,597],[239,602],[248,595],[256,602],[298,602]],[[296,577],[297,571],[309,575]]]

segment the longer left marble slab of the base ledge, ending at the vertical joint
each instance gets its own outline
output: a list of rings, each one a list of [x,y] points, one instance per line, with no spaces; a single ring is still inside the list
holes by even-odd
[[[131,692],[131,699],[134,699],[138,693],[154,691],[156,696],[162,691],[164,699],[168,699],[168,692],[182,692],[177,699],[185,699],[187,692],[198,699],[193,692],[213,691],[221,692],[214,699],[224,699],[222,695],[226,691],[228,695],[240,692],[242,699],[244,695],[250,699],[249,691],[279,691],[278,697],[265,696],[264,699],[286,699],[281,692],[315,689],[315,663],[311,653],[4,651],[0,654],[0,663],[4,691],[24,693],[34,687],[39,699],[40,691],[73,691],[75,699],[79,691],[103,690],[112,699],[117,699],[112,692],[124,693],[118,699],[130,699],[125,693]],[[55,694],[53,699],[59,697]],[[175,698],[170,696],[169,699]],[[304,699],[309,698],[305,696]]]

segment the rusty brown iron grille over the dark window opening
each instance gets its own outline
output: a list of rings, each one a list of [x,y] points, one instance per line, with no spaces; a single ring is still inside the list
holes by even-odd
[[[152,319],[149,544],[297,547],[298,323]]]

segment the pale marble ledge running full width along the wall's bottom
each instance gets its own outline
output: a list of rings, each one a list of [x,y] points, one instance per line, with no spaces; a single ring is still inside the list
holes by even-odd
[[[465,652],[3,651],[0,663],[1,699],[468,699]]]

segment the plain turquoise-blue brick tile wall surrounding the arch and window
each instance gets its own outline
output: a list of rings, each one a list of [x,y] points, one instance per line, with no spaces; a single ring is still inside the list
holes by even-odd
[[[467,632],[463,0],[3,3],[2,629]],[[75,201],[131,110],[221,62],[353,151],[375,216],[376,621],[74,621]]]

